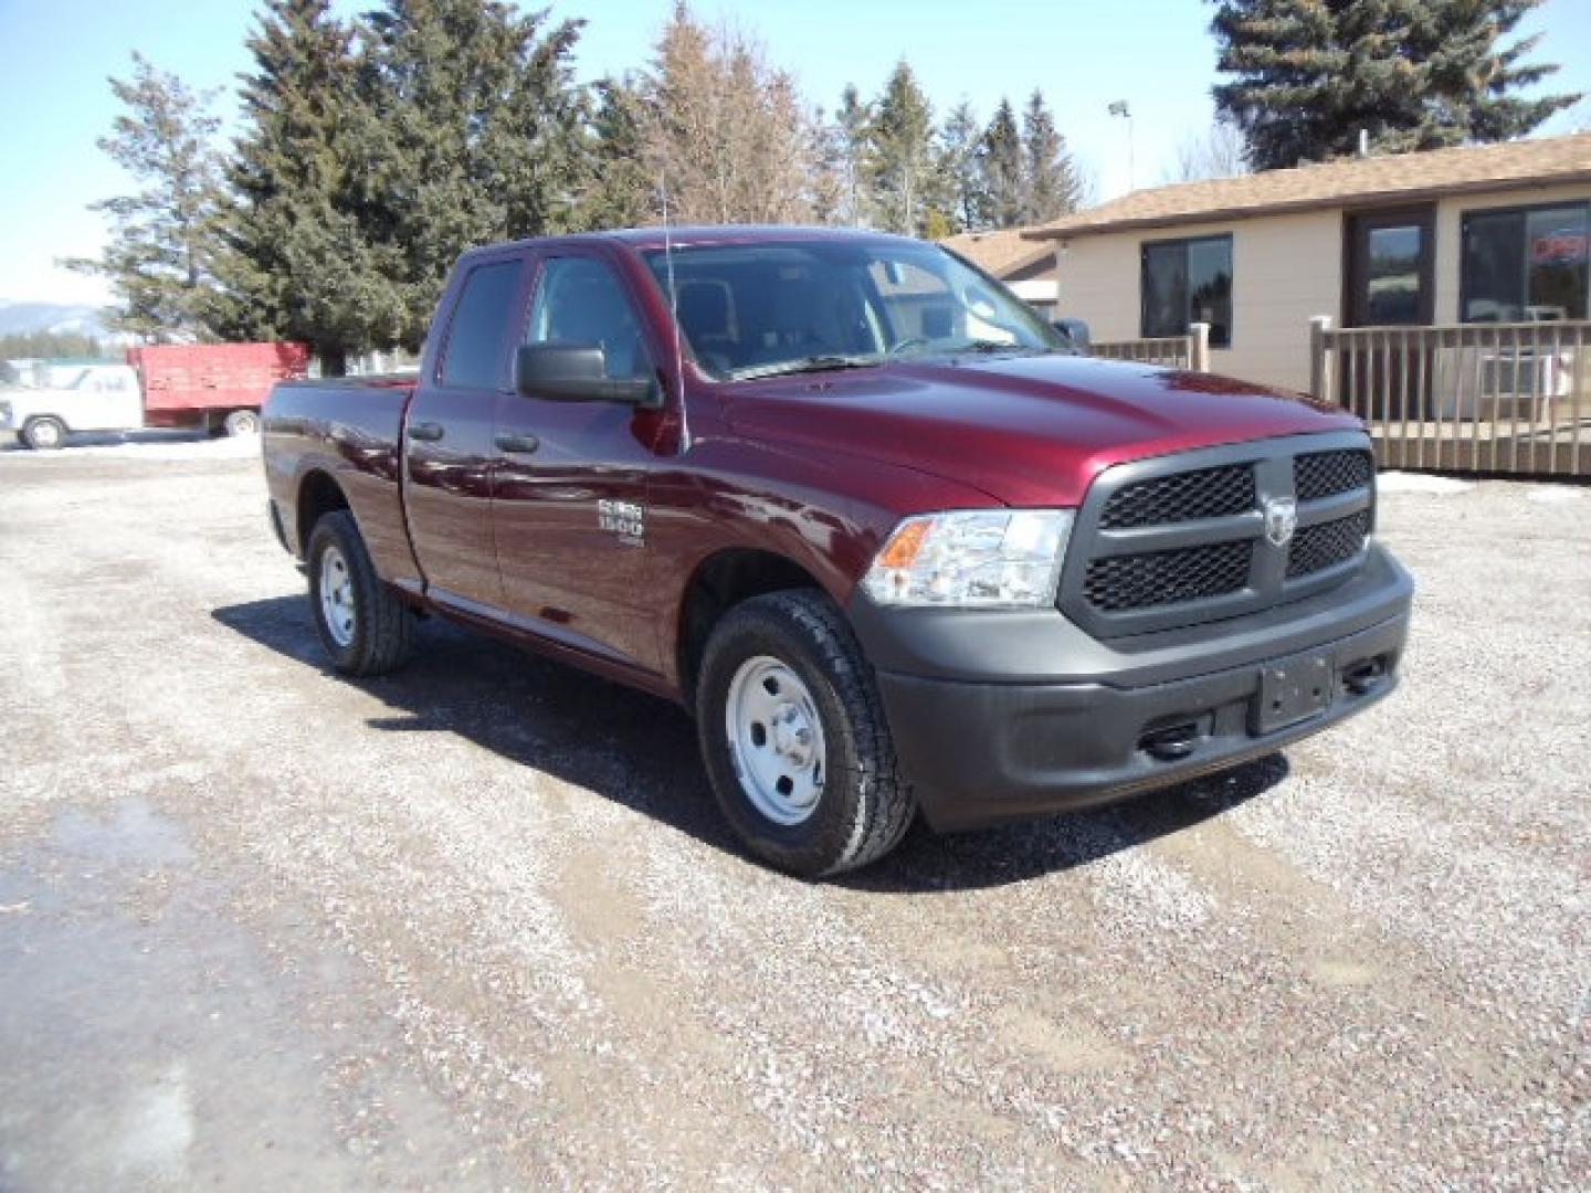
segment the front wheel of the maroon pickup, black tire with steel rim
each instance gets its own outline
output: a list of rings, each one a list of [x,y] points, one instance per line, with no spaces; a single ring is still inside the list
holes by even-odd
[[[780,870],[867,865],[916,813],[872,666],[823,593],[770,593],[725,614],[702,657],[697,727],[724,816]]]

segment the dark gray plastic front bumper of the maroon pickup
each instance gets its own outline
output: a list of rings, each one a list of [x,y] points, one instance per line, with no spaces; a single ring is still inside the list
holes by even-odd
[[[1169,786],[1352,716],[1395,687],[1411,600],[1408,573],[1371,547],[1332,592],[1109,643],[1048,611],[885,611],[858,596],[851,617],[902,771],[929,824],[953,830]],[[1295,655],[1330,660],[1332,703],[1257,732],[1260,676]],[[1176,759],[1146,748],[1169,725],[1193,727]]]

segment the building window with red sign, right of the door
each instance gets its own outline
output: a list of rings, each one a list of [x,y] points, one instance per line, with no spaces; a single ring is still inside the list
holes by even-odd
[[[1467,212],[1461,318],[1465,323],[1591,318],[1588,232],[1591,204]]]

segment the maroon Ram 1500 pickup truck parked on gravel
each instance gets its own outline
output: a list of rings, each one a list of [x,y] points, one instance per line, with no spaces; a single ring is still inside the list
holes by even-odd
[[[1268,754],[1408,631],[1359,420],[1076,355],[901,237],[476,250],[417,380],[278,385],[264,434],[337,670],[430,612],[679,701],[800,875]]]

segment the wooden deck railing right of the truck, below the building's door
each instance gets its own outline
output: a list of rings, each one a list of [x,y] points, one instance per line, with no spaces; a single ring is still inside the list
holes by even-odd
[[[1387,468],[1591,476],[1591,321],[1311,324],[1311,391]]]

